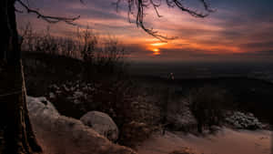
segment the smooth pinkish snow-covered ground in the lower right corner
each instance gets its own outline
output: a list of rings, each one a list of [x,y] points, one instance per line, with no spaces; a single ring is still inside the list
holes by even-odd
[[[168,154],[188,147],[197,154],[271,154],[272,131],[223,128],[216,135],[201,138],[167,132],[156,134],[137,147],[138,154]]]

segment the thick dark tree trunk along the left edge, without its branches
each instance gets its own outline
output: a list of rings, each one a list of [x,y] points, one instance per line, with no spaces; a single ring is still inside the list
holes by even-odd
[[[15,21],[15,0],[1,0],[0,153],[42,153],[26,108],[25,79]]]

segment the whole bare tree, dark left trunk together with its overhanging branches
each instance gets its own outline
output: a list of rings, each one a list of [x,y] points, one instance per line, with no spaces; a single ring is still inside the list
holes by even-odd
[[[27,1],[27,0],[26,0]],[[80,0],[82,2],[82,0]],[[136,8],[136,26],[140,26],[147,34],[155,36],[160,40],[172,39],[162,36],[152,28],[144,25],[145,9],[152,6],[158,16],[158,7],[161,0],[124,0],[128,5],[128,16],[132,15]],[[204,5],[207,13],[212,12],[205,0],[199,0]],[[21,49],[18,46],[18,34],[15,20],[15,3],[22,5],[29,14],[37,15],[48,23],[66,22],[76,25],[76,17],[59,17],[43,15],[38,10],[31,8],[24,0],[1,0],[0,16],[2,25],[2,41],[0,43],[0,153],[3,154],[33,154],[42,153],[38,145],[25,102],[25,79],[21,62]],[[116,5],[122,0],[117,0]],[[82,2],[83,3],[83,2]],[[188,9],[183,5],[183,0],[166,0],[170,7],[178,7],[181,11],[197,17],[206,17],[207,14],[200,14]]]

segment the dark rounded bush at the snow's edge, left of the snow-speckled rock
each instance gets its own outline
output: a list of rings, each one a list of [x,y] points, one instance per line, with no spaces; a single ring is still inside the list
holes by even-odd
[[[203,128],[212,130],[212,126],[224,121],[228,99],[227,91],[218,87],[206,86],[191,90],[190,109],[197,118],[199,133],[202,133]]]

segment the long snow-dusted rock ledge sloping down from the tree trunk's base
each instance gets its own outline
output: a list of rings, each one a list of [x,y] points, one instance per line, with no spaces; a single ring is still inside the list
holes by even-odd
[[[99,135],[80,120],[66,118],[54,106],[41,102],[45,98],[27,98],[29,117],[36,139],[44,153],[50,154],[136,154],[132,149],[116,145]]]

